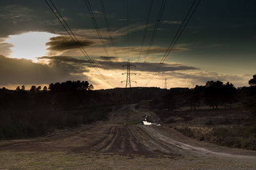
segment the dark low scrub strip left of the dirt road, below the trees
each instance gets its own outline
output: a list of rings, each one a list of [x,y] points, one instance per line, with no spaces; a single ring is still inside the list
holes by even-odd
[[[34,138],[52,132],[54,129],[78,127],[82,124],[106,120],[109,112],[112,111],[111,107],[111,104],[99,104],[97,107],[88,106],[87,108],[72,110],[24,112],[24,117],[28,116],[29,119],[17,118],[13,116],[15,113],[10,112],[10,119],[0,121],[0,140]]]

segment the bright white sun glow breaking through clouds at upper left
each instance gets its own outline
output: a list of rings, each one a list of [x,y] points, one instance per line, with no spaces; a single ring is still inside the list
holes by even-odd
[[[24,34],[9,36],[6,43],[13,44],[12,57],[24,58],[36,61],[36,57],[41,57],[47,53],[47,46],[45,43],[49,38],[58,36],[58,34],[51,34],[49,32],[26,32]]]

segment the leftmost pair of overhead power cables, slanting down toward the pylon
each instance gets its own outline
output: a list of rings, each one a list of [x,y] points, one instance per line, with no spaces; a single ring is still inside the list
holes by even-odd
[[[111,85],[111,83],[109,83],[108,80],[106,80],[106,78],[103,76],[103,74],[100,72],[99,68],[97,67],[97,65],[95,64],[95,62],[90,58],[90,56],[88,55],[88,53],[84,50],[83,45],[81,45],[81,43],[79,42],[79,40],[76,38],[76,36],[74,35],[74,32],[72,32],[72,30],[70,29],[70,27],[68,26],[67,22],[65,21],[65,19],[62,17],[62,15],[60,14],[60,11],[58,11],[58,9],[56,8],[55,4],[52,3],[51,0],[49,0],[53,6],[51,6],[51,4],[49,4],[47,2],[47,0],[45,0],[45,3],[47,3],[47,5],[49,6],[49,8],[51,9],[52,13],[54,13],[54,15],[56,16],[56,18],[59,20],[59,22],[61,23],[61,25],[64,27],[65,31],[67,31],[68,35],[70,36],[70,38],[76,43],[77,48],[79,48],[79,50],[81,50],[81,52],[83,53],[84,57],[86,57],[86,59],[90,62],[90,64],[94,67],[94,69],[97,71],[97,73],[100,74],[101,78],[106,81],[109,85]],[[60,17],[59,17],[59,16]],[[61,20],[63,22],[61,22]],[[112,87],[114,87],[113,85],[111,85]]]

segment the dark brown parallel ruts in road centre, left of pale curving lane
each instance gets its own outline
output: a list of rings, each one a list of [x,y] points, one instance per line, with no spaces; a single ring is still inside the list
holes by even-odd
[[[93,146],[92,150],[134,154],[168,154],[178,156],[170,147],[157,141],[140,126],[122,125],[111,127],[107,138]]]

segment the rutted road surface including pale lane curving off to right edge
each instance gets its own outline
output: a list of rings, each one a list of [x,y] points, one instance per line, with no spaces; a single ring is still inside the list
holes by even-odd
[[[221,153],[189,145],[164,136],[150,125],[120,125],[111,127],[107,136],[91,149],[100,152],[166,155],[209,155],[218,157],[255,158],[246,155]]]

